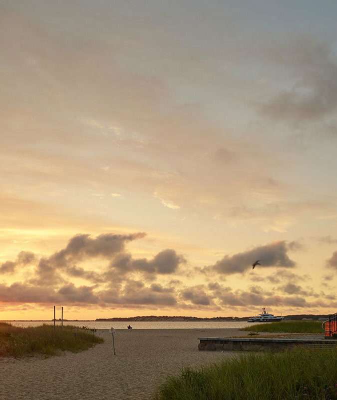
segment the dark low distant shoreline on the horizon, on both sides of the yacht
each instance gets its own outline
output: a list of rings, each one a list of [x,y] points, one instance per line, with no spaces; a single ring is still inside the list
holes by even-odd
[[[250,315],[252,316],[252,315]],[[313,320],[318,318],[329,318],[328,315],[324,314],[296,314],[296,315],[284,315],[285,319],[300,320],[303,318],[312,318]],[[200,318],[198,316],[168,316],[168,315],[146,315],[146,316],[130,316],[130,317],[112,317],[112,318],[96,318],[96,321],[245,321],[249,316],[238,317],[238,316],[214,316],[212,318]]]

